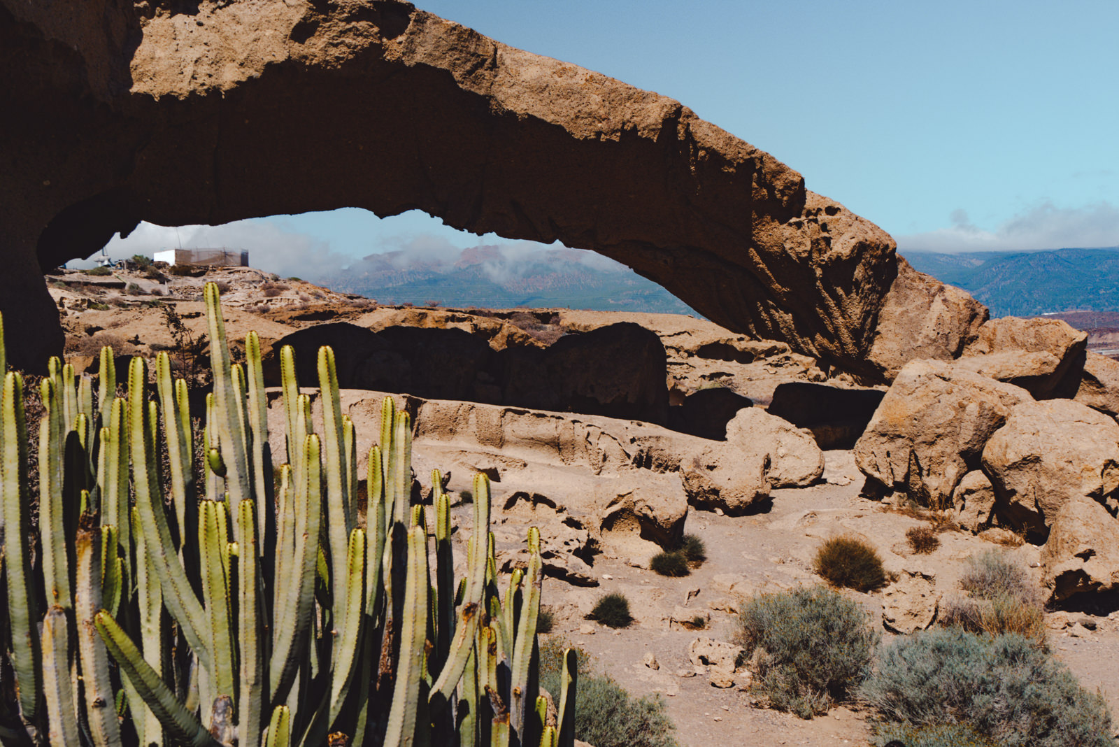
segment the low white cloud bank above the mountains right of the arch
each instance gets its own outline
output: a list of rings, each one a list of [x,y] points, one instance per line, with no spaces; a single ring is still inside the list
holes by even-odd
[[[1059,208],[1052,202],[1016,215],[994,231],[975,226],[963,209],[953,210],[952,225],[924,234],[897,237],[901,252],[1006,252],[1119,246],[1119,207],[1098,202],[1083,208]]]

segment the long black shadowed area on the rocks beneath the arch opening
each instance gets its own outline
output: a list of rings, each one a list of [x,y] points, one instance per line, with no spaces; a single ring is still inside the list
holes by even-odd
[[[656,333],[632,323],[568,334],[546,349],[507,344],[501,350],[461,329],[373,332],[346,322],[319,324],[272,346],[265,360],[271,385],[279,384],[279,351],[285,344],[295,350],[300,381],[318,379],[318,350],[329,344],[344,388],[657,424],[668,418],[665,348]]]

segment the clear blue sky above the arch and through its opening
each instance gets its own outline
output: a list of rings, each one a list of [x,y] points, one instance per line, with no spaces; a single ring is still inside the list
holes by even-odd
[[[903,252],[1119,245],[1116,0],[419,6],[679,100],[885,228]],[[172,234],[143,226],[111,248],[171,244]],[[342,262],[417,237],[479,242],[425,216],[361,210],[179,236],[248,248],[286,240]]]

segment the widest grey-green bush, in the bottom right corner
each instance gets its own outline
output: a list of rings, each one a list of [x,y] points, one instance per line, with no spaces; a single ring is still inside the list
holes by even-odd
[[[933,628],[885,647],[863,698],[886,720],[967,724],[1000,747],[1104,747],[1111,717],[1035,642]],[[908,743],[906,743],[908,744]]]

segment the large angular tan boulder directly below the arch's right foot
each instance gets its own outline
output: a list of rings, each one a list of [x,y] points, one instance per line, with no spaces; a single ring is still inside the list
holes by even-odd
[[[886,490],[947,507],[982,448],[1029,393],[938,360],[902,368],[866,432],[855,463]]]

